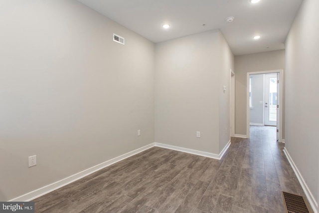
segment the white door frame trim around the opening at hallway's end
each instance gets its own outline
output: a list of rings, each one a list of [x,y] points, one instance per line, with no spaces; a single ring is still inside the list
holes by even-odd
[[[277,70],[268,70],[268,71],[257,71],[257,72],[247,72],[247,79],[246,79],[246,137],[250,138],[250,131],[249,131],[249,121],[250,121],[250,113],[249,113],[249,77],[250,75],[256,74],[270,74],[270,73],[278,73],[278,80],[279,80],[279,88],[278,88],[278,113],[279,113],[279,120],[277,121],[277,129],[278,129],[278,140],[279,142],[283,142],[283,76],[284,71],[282,69]]]

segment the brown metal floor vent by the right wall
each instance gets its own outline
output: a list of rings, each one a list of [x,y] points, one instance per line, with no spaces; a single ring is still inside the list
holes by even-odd
[[[304,197],[282,192],[286,213],[313,213]]]

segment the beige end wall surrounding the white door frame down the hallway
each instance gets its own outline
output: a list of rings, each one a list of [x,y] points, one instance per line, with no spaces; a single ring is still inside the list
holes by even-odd
[[[284,70],[285,86],[285,50],[254,53],[235,56],[235,134],[246,135],[246,87],[247,72]],[[283,91],[285,100],[285,89]],[[285,120],[285,101],[283,103],[283,121]],[[283,122],[285,139],[285,122]]]

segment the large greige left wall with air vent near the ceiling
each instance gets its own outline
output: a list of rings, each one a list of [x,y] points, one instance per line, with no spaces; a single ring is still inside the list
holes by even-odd
[[[0,201],[154,142],[152,42],[76,0],[1,0],[0,26]]]

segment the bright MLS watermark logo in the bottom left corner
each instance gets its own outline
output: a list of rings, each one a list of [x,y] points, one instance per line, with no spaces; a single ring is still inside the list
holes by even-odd
[[[34,213],[34,202],[0,202],[0,213]]]

